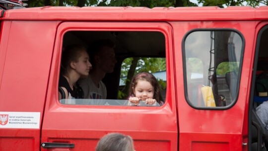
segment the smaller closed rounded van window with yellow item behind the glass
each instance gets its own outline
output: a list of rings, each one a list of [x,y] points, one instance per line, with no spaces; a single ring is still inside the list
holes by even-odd
[[[184,41],[186,98],[193,107],[224,108],[237,100],[243,41],[235,31],[188,33]]]

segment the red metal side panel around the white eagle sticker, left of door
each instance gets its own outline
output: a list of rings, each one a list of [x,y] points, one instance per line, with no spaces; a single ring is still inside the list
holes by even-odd
[[[40,125],[35,129],[2,126],[0,128],[1,151],[5,151],[4,146],[8,146],[13,151],[39,151],[40,149],[41,121],[56,25],[52,21],[2,23],[0,112],[38,112]]]

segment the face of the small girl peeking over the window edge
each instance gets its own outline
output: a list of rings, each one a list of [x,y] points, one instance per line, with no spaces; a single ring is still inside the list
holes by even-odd
[[[137,84],[134,87],[134,94],[141,100],[146,100],[147,98],[153,98],[154,87],[152,84],[146,80],[137,80]]]

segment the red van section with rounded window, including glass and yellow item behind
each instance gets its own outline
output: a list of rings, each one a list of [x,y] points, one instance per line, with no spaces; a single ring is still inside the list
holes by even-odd
[[[180,151],[246,151],[253,23],[172,25]]]

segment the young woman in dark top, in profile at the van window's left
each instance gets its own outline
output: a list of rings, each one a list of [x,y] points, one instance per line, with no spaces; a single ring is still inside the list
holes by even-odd
[[[85,47],[77,44],[67,46],[62,54],[59,99],[84,98],[83,90],[76,81],[87,76],[90,68]]]

